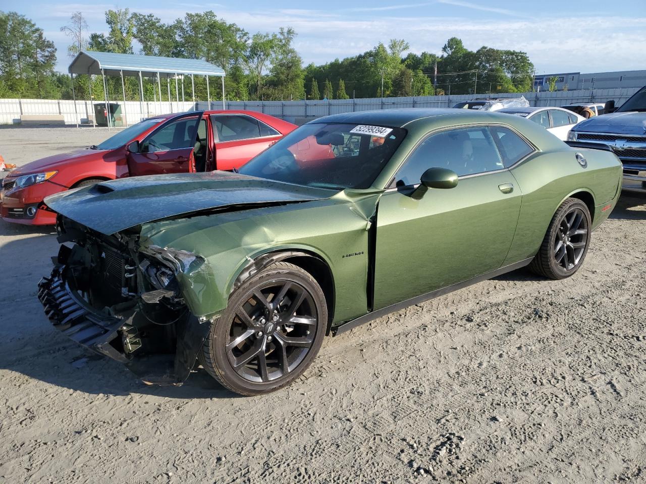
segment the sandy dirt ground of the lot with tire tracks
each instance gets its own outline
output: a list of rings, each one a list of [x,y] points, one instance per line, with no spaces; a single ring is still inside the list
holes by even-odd
[[[0,153],[92,136],[0,130]],[[84,352],[36,299],[54,236],[0,222],[0,481],[644,482],[645,203],[622,197],[574,277],[521,270],[391,314],[258,398]]]

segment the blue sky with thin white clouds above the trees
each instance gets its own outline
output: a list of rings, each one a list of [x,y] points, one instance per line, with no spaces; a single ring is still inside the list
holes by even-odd
[[[70,40],[59,28],[70,14],[83,12],[90,32],[105,32],[105,10],[126,7],[166,22],[185,12],[213,10],[252,34],[292,26],[306,64],[359,54],[390,38],[406,39],[412,52],[439,54],[446,39],[456,36],[472,50],[483,45],[524,50],[537,74],[646,68],[646,0],[32,0],[25,4],[0,0],[0,9],[16,10],[45,30],[58,49],[57,67],[65,72]]]

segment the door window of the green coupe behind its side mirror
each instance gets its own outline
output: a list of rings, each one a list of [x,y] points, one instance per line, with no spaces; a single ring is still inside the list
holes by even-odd
[[[428,168],[448,168],[464,176],[504,166],[489,129],[478,126],[442,131],[422,141],[395,176],[397,187],[417,185]]]

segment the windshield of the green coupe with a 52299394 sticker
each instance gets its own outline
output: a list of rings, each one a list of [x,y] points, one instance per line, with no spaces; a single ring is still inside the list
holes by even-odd
[[[308,187],[368,188],[406,130],[345,123],[310,123],[276,141],[240,173]]]

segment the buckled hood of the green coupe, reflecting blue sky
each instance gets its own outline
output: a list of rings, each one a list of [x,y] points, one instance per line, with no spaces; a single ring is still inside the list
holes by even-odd
[[[152,175],[98,183],[45,198],[59,214],[106,235],[219,207],[311,201],[335,191],[230,172]]]

